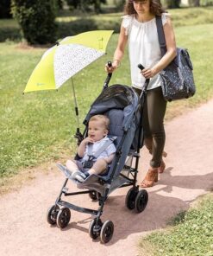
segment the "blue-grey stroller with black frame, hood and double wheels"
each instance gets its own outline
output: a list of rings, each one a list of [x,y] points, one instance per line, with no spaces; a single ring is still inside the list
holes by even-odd
[[[139,66],[142,68],[141,66]],[[87,177],[85,182],[76,182],[78,192],[68,193],[66,183],[64,182],[60,195],[56,202],[47,210],[47,222],[51,225],[57,224],[58,227],[64,228],[68,225],[71,218],[71,211],[75,210],[81,213],[94,215],[89,227],[91,239],[96,240],[100,236],[102,243],[111,240],[114,232],[112,221],[102,221],[103,206],[108,196],[115,189],[128,187],[125,204],[129,210],[135,209],[141,213],[147,206],[147,190],[139,190],[136,185],[138,164],[140,158],[140,149],[143,145],[143,134],[141,127],[142,105],[146,94],[148,80],[146,80],[141,96],[129,86],[113,85],[108,86],[111,74],[108,74],[103,91],[91,105],[91,109],[85,117],[85,131],[83,138],[87,135],[87,126],[91,116],[104,114],[110,118],[109,136],[116,137],[116,155],[110,165],[110,170],[106,175],[97,176],[92,174]],[[82,139],[82,138],[81,138]],[[60,169],[66,170],[62,165]],[[93,201],[98,201],[98,209],[89,209],[78,207],[70,202],[62,200],[63,196],[88,194]]]

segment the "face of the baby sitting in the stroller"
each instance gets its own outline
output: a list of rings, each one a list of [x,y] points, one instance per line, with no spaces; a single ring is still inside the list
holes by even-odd
[[[102,121],[94,120],[89,122],[88,136],[94,140],[94,142],[101,140],[107,135],[105,125]]]

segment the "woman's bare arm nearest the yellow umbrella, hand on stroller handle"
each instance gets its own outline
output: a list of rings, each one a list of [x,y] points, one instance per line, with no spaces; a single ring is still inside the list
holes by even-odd
[[[125,35],[125,29],[121,26],[120,34],[118,37],[116,51],[114,53],[112,67],[105,66],[105,70],[108,73],[112,73],[117,67],[121,65],[122,56],[128,41],[128,35]]]

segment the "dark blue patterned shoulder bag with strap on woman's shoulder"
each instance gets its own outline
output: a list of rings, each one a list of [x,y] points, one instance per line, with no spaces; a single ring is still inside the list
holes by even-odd
[[[163,56],[166,54],[166,40],[161,16],[156,16],[156,24],[160,51]],[[196,88],[192,70],[193,67],[187,49],[177,48],[177,55],[174,60],[160,71],[162,93],[167,101],[187,99],[195,94]]]

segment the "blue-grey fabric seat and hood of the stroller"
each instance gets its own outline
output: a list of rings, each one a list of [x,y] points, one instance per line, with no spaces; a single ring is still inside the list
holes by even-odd
[[[116,157],[111,163],[110,170],[105,176],[91,175],[85,182],[79,183],[78,188],[95,189],[102,194],[103,189],[98,184],[98,179],[103,182],[116,182],[120,187],[123,182],[118,178],[125,160],[131,152],[134,154],[138,137],[137,129],[140,125],[141,107],[139,97],[134,89],[129,86],[113,85],[103,90],[91,105],[91,109],[85,117],[84,124],[88,125],[90,118],[96,114],[105,114],[110,118],[109,135],[116,136]],[[134,141],[136,142],[134,144]],[[118,183],[117,183],[118,180]]]

